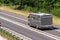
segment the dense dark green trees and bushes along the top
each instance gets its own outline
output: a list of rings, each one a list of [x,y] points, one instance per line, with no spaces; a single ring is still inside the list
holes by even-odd
[[[60,0],[0,0],[0,5],[31,12],[48,12],[60,16]]]

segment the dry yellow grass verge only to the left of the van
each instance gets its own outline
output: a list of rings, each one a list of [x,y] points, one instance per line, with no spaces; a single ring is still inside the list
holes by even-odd
[[[20,14],[20,15],[24,15],[24,16],[28,16],[28,14],[29,14],[28,11],[14,10],[9,6],[0,6],[0,10],[5,10],[5,11],[8,11],[8,12],[12,12],[12,13]]]

